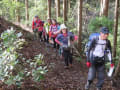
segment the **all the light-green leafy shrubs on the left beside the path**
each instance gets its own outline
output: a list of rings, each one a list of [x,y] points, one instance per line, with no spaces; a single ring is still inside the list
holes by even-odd
[[[16,33],[15,30],[6,30],[1,34],[0,39],[0,80],[7,85],[15,84],[20,87],[22,81],[27,77],[31,77],[35,81],[43,79],[47,72],[47,67],[42,66],[43,55],[39,54],[34,59],[26,60],[17,52],[25,43],[24,39],[20,39],[22,33]],[[21,63],[21,59],[24,63]],[[27,66],[27,67],[26,67]]]

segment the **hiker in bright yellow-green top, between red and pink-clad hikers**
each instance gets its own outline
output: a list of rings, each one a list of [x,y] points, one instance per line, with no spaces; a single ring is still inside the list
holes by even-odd
[[[47,19],[47,22],[44,24],[45,38],[47,43],[49,43],[49,29],[51,24],[52,24],[51,19]]]

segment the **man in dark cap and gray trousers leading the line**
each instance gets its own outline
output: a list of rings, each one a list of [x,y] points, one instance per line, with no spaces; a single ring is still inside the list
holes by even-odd
[[[90,88],[93,79],[96,77],[96,73],[98,78],[96,87],[97,90],[101,90],[105,78],[105,56],[108,56],[111,67],[114,67],[114,64],[112,63],[111,43],[108,40],[108,36],[108,28],[102,27],[100,30],[100,35],[91,40],[88,48],[86,63],[89,68],[89,72],[85,90]]]

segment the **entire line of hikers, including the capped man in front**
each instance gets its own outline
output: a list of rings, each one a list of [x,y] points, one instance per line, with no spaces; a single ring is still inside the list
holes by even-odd
[[[72,67],[72,44],[77,40],[77,36],[68,30],[65,24],[58,24],[55,19],[48,19],[47,22],[41,21],[35,16],[32,22],[34,39],[41,42],[53,43],[53,48],[60,49],[60,55],[64,58],[65,68]],[[38,38],[38,36],[39,38]],[[109,29],[101,27],[99,33],[91,35],[87,43],[86,66],[89,68],[88,79],[85,90],[89,90],[94,78],[97,75],[97,90],[101,90],[105,79],[106,57],[110,61],[110,67],[113,68],[111,54],[111,43],[108,40]]]

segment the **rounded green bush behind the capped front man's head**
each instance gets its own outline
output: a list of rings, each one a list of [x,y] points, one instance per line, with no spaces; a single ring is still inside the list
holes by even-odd
[[[112,31],[113,20],[110,20],[106,17],[96,17],[92,19],[88,25],[88,30],[91,32],[99,32],[100,27],[105,26],[108,27],[110,31]]]

